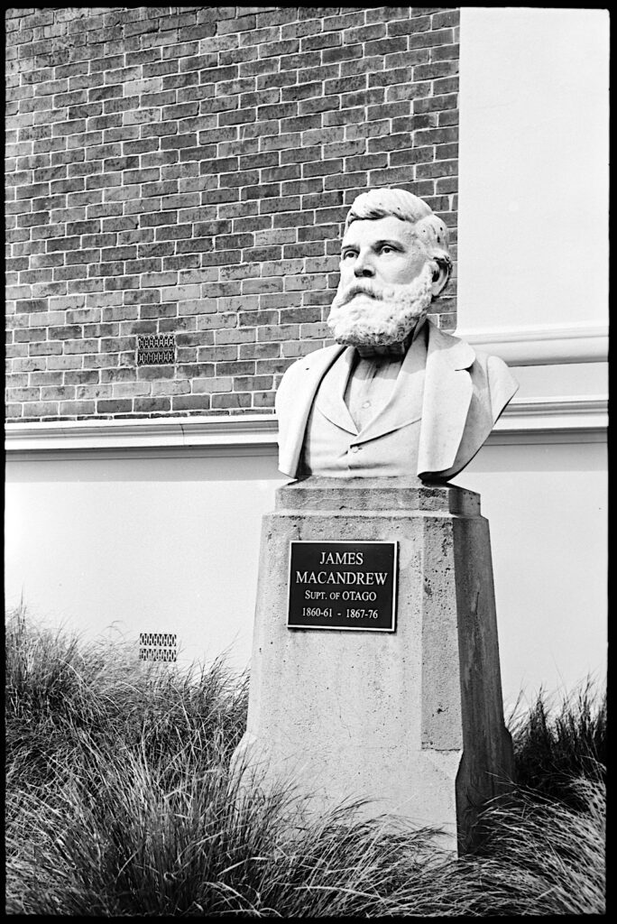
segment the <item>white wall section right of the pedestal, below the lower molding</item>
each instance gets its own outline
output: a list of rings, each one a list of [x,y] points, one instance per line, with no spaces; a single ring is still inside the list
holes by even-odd
[[[454,479],[490,523],[508,702],[606,675],[606,464],[605,444],[487,444]]]

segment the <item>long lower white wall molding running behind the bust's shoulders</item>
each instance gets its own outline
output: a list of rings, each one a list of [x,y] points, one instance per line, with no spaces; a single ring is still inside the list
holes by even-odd
[[[497,421],[489,442],[601,441],[608,427],[603,395],[513,401]],[[277,447],[273,415],[242,417],[68,420],[6,424],[10,458],[64,458],[84,453],[110,457],[162,452],[176,455],[273,455]]]

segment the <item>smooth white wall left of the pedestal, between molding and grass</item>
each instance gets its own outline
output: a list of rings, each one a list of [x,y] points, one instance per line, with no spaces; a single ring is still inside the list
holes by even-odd
[[[179,662],[227,650],[242,669],[260,518],[282,483],[272,454],[9,461],[6,603],[23,594],[86,637],[175,632]]]

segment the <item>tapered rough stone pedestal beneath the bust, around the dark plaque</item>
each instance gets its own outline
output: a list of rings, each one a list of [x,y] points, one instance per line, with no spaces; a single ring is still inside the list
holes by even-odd
[[[395,632],[287,628],[292,540],[397,542]],[[401,479],[277,491],[238,766],[291,782],[318,812],[367,799],[365,816],[437,827],[441,845],[469,848],[478,807],[513,774],[478,494]]]

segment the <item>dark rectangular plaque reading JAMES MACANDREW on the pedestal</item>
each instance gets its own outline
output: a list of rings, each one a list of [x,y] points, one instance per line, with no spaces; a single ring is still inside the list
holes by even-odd
[[[396,542],[289,543],[290,629],[396,628]]]

